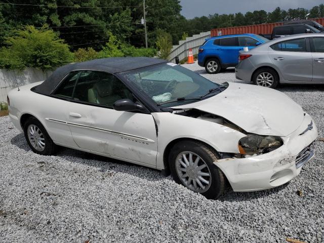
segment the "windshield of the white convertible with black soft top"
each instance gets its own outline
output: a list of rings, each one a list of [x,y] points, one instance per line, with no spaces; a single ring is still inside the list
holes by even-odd
[[[220,93],[223,86],[174,63],[164,63],[121,73],[157,105],[171,107]],[[221,89],[223,88],[223,89]]]

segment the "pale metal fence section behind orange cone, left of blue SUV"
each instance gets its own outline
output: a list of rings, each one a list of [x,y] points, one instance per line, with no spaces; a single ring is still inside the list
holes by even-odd
[[[206,38],[209,38],[211,31],[202,32],[200,34],[194,34],[191,37],[187,37],[185,41],[179,41],[178,46],[173,46],[170,52],[170,61],[175,62],[175,58],[178,56],[179,60],[182,60],[188,56],[188,51],[191,48],[192,54],[198,53],[198,48],[205,42]]]

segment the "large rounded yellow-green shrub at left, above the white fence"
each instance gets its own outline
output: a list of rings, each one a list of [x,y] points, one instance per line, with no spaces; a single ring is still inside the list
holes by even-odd
[[[0,65],[7,69],[54,69],[73,60],[68,45],[53,31],[26,26],[13,37],[7,37],[8,48],[0,50]]]

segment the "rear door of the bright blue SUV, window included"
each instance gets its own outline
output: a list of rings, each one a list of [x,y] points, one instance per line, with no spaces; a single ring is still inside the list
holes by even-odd
[[[238,54],[242,47],[238,46],[237,37],[224,37],[220,39],[219,52],[223,64],[236,64],[238,62]]]

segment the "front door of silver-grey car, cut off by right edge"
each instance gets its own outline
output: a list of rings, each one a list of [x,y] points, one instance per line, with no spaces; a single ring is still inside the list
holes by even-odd
[[[324,82],[324,37],[310,38],[313,60],[313,82]]]

